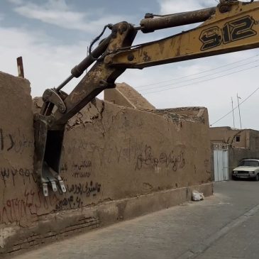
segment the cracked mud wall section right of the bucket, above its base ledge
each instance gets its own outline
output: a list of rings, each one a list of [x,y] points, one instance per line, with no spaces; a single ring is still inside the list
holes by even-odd
[[[186,121],[103,101],[90,106],[69,123],[62,165],[69,192],[82,184],[80,194],[88,195],[89,184],[94,187],[87,199],[75,195],[83,205],[209,181],[202,118]]]

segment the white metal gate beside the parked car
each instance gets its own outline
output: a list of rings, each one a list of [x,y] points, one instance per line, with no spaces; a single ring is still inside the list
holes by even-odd
[[[229,180],[228,174],[228,145],[214,144],[214,181]]]

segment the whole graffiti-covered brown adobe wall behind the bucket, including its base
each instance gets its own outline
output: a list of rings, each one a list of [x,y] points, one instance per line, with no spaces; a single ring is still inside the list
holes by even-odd
[[[206,109],[187,116],[96,100],[67,125],[67,192],[43,197],[29,82],[0,72],[0,92],[0,254],[180,204],[192,189],[212,194]]]

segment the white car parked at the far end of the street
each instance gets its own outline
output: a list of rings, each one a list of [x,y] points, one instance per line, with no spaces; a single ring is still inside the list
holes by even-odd
[[[259,180],[259,160],[244,159],[240,162],[238,167],[232,171],[232,179],[253,178],[255,181]]]

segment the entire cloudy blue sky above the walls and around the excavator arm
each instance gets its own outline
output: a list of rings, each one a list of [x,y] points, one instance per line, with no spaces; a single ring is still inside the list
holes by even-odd
[[[44,89],[56,87],[70,75],[71,68],[87,55],[87,46],[107,23],[128,21],[138,25],[147,12],[177,13],[216,4],[216,0],[3,0],[0,70],[17,75],[16,57],[23,56],[32,95],[41,96]],[[186,28],[192,26],[184,26],[184,30]],[[182,30],[139,33],[135,43],[156,40]],[[231,97],[236,106],[237,93],[242,101],[259,87],[258,55],[258,50],[246,50],[144,70],[127,70],[117,82],[135,87],[157,108],[206,106],[210,123],[213,123],[231,110]],[[74,80],[65,90],[69,93],[76,83]],[[259,109],[258,97],[259,90],[241,106],[245,128],[259,130],[259,121],[251,116]],[[237,110],[235,116],[236,127],[239,127]],[[231,114],[214,126],[233,126]]]

